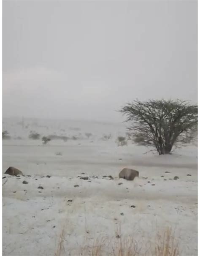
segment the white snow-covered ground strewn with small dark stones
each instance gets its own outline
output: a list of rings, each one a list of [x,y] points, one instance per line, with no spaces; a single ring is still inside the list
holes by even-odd
[[[53,256],[62,230],[65,256],[78,256],[81,247],[95,239],[117,240],[118,234],[130,235],[146,248],[167,228],[174,231],[181,256],[197,255],[196,145],[157,156],[131,142],[117,147],[124,124],[26,120],[29,126],[22,129],[16,120],[3,121],[11,136],[3,140],[3,173],[15,166],[25,175],[3,174],[4,256]],[[80,139],[43,145],[27,139],[33,130],[42,136],[56,133]],[[90,139],[86,132],[92,133]],[[101,140],[109,133],[111,139]],[[22,139],[14,139],[17,136]],[[139,178],[119,180],[123,167],[138,170]],[[104,250],[109,255],[108,246]]]

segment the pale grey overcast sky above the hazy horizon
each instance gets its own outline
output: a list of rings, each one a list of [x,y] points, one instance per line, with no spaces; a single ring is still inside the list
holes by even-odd
[[[197,1],[3,0],[3,117],[120,121],[197,103]]]

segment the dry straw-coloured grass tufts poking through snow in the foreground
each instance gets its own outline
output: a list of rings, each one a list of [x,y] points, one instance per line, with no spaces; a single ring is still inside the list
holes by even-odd
[[[55,256],[61,256],[63,241],[65,238],[64,229],[59,237],[59,244]],[[147,241],[148,242],[148,241]],[[166,229],[162,234],[156,235],[156,242],[150,242],[149,248],[145,244],[143,248],[133,237],[123,237],[117,234],[115,238],[108,239],[99,237],[89,245],[88,239],[85,245],[78,251],[70,254],[76,256],[180,256],[178,242],[175,239],[172,229]],[[63,255],[67,255],[66,253]]]

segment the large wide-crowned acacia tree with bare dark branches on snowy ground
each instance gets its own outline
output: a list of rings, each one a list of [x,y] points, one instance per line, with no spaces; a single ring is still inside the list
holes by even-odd
[[[135,100],[120,110],[133,122],[128,130],[136,144],[153,146],[159,155],[169,154],[174,145],[194,139],[197,106],[181,100]]]

